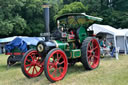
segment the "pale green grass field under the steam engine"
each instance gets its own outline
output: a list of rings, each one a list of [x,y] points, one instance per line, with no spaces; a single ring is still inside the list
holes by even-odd
[[[81,63],[69,67],[61,81],[50,83],[44,73],[36,78],[26,78],[16,64],[7,69],[6,55],[0,55],[0,85],[128,85],[128,56],[101,59],[97,69],[87,71]]]

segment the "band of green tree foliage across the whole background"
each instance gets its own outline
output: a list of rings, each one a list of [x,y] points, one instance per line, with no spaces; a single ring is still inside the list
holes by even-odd
[[[55,18],[65,13],[102,17],[102,24],[128,28],[128,0],[0,0],[0,37],[39,36],[44,32],[42,4],[50,4],[50,29]]]

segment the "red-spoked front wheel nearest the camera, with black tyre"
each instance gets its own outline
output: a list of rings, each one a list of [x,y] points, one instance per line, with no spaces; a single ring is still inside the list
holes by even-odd
[[[49,81],[55,82],[63,79],[68,69],[65,53],[59,48],[51,50],[46,56],[44,69]]]

